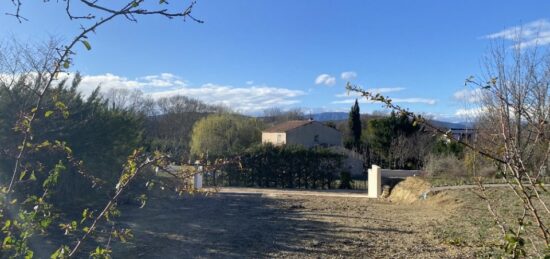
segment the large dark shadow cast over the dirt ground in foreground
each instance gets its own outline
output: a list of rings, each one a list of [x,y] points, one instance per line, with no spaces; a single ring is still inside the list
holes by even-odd
[[[309,254],[338,242],[326,222],[305,220],[300,205],[251,194],[215,194],[151,200],[145,209],[121,208],[134,231],[132,243],[113,248],[114,258],[267,257]],[[349,228],[347,231],[369,231]],[[399,231],[371,229],[371,231]],[[349,242],[349,240],[340,240]],[[318,252],[318,251],[317,251]],[[331,251],[326,251],[331,253]],[[334,251],[332,251],[334,252]],[[337,251],[336,251],[337,252]],[[340,256],[345,253],[338,252]],[[351,256],[351,254],[347,255]]]

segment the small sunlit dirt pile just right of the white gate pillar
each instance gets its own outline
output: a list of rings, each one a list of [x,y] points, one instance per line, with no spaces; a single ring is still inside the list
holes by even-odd
[[[430,183],[419,177],[407,177],[393,187],[389,198],[393,202],[413,203],[424,199],[430,188]]]

